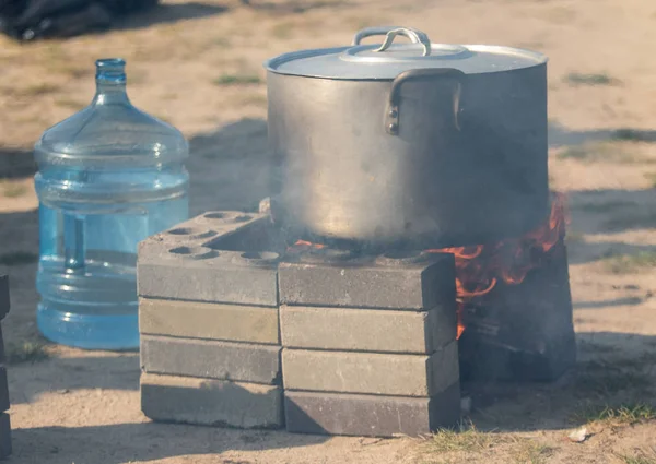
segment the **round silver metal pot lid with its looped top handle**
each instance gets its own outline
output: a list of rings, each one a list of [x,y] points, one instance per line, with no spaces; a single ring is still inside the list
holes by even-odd
[[[360,45],[364,37],[385,35],[382,45]],[[396,36],[411,44],[393,44]],[[432,44],[410,27],[368,27],[350,47],[321,48],[284,53],[265,63],[278,74],[337,80],[393,80],[411,69],[450,68],[465,74],[513,71],[547,62],[536,51],[490,45]]]

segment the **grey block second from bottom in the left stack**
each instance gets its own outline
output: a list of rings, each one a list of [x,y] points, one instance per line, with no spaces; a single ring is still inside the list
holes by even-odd
[[[151,373],[279,384],[280,347],[143,335],[141,366]]]

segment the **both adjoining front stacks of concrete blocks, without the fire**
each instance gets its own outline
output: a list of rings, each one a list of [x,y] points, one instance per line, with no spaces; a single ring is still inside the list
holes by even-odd
[[[453,255],[290,255],[274,236],[268,214],[215,212],[140,243],[144,414],[379,437],[456,425]]]

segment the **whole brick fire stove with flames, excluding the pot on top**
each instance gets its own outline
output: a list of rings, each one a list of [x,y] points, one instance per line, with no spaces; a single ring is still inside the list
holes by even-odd
[[[141,243],[142,409],[154,420],[422,435],[470,380],[575,360],[564,204],[517,239],[382,253],[212,212]]]

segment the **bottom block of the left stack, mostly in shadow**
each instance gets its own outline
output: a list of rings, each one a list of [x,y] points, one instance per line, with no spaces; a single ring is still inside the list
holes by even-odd
[[[282,389],[255,383],[142,373],[141,411],[156,421],[238,428],[284,426]]]

